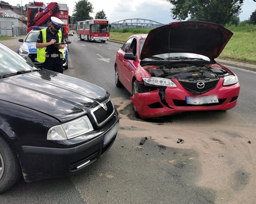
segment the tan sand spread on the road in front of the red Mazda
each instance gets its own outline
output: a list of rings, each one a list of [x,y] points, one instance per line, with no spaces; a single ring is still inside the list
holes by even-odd
[[[198,152],[201,168],[196,184],[216,191],[216,202],[256,201],[256,142],[248,142],[256,141],[253,115],[245,116],[231,109],[142,120],[133,111],[130,100],[117,98],[113,102],[120,106],[120,132],[127,137],[138,141],[148,137],[165,147]],[[178,139],[184,143],[177,143]],[[193,161],[193,157],[190,159]]]

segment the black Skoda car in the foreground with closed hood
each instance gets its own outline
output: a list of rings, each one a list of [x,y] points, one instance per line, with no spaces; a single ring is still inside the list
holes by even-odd
[[[0,43],[0,193],[76,173],[105,154],[119,114],[101,87],[38,68]]]

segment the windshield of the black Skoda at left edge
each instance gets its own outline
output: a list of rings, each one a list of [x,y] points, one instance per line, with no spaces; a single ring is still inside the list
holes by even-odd
[[[31,62],[0,43],[0,76],[16,73],[18,71],[37,70]]]

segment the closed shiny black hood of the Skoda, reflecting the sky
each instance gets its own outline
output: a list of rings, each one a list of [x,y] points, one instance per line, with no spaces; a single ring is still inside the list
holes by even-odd
[[[0,100],[55,117],[79,117],[107,99],[108,92],[89,82],[48,70],[0,79]]]

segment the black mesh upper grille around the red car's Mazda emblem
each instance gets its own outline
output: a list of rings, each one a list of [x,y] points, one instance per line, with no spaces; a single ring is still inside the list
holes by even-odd
[[[194,81],[194,80],[189,81],[189,80],[183,80],[183,79],[179,80],[181,85],[190,93],[202,94],[202,93],[206,93],[207,91],[215,88],[219,82],[219,79],[210,79],[209,81],[208,80],[201,80],[201,81],[204,82],[205,86],[202,89],[199,89],[199,88],[197,88],[198,81]]]

